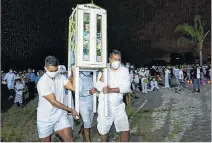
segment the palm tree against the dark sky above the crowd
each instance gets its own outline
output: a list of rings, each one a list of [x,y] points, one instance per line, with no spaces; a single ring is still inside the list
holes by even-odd
[[[200,66],[202,66],[202,49],[204,46],[205,37],[210,32],[207,31],[205,33],[204,26],[201,22],[200,15],[196,15],[194,19],[194,25],[189,25],[188,23],[178,25],[175,29],[175,32],[182,32],[184,35],[178,38],[178,45],[184,44],[197,44],[197,48],[199,51],[199,58],[200,58]]]

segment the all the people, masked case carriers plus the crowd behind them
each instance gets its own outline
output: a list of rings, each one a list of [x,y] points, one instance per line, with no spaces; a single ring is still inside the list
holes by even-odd
[[[45,69],[37,71],[16,72],[12,69],[8,73],[2,72],[2,84],[8,88],[8,100],[14,98],[14,103],[23,108],[24,94],[29,93],[29,98],[39,95],[37,108],[38,135],[42,141],[51,141],[53,130],[63,141],[74,141],[72,131],[74,119],[82,118],[81,131],[84,141],[90,142],[90,129],[94,118],[93,94],[98,93],[98,118],[97,130],[101,135],[101,141],[108,141],[107,134],[114,123],[116,131],[121,132],[120,141],[129,141],[129,121],[125,110],[126,104],[130,104],[129,96],[139,98],[135,92],[141,91],[145,95],[160,88],[172,88],[176,85],[192,80],[193,92],[200,92],[201,84],[211,80],[211,66],[200,67],[195,65],[177,66],[151,66],[136,68],[126,63],[121,64],[121,52],[113,50],[110,54],[110,63],[107,65],[107,84],[104,80],[104,72],[97,77],[97,83],[93,84],[91,71],[80,71],[79,114],[74,109],[75,68],[71,74],[66,67],[59,65],[54,56],[45,59]],[[5,87],[5,88],[6,88]],[[14,93],[15,92],[15,93]],[[102,94],[101,94],[102,93]],[[107,94],[108,116],[104,111],[104,96]],[[124,96],[126,95],[126,96]],[[72,98],[73,97],[73,98]]]

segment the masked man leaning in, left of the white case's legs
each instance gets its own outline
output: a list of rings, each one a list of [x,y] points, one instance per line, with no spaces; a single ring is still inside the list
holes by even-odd
[[[74,109],[64,105],[65,88],[74,91],[75,83],[58,74],[59,62],[56,57],[45,59],[46,73],[38,81],[39,101],[37,107],[38,135],[42,142],[50,142],[53,130],[65,142],[73,142],[72,127],[68,120],[68,112],[75,119],[79,116]],[[73,70],[73,81],[75,72]]]

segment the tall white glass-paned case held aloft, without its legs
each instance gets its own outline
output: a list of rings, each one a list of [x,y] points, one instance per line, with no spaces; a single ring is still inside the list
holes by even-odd
[[[95,4],[77,5],[69,18],[68,67],[105,68],[107,13]]]

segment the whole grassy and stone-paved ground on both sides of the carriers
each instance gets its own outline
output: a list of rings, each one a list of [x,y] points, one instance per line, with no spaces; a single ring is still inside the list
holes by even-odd
[[[170,89],[137,93],[128,108],[132,142],[138,141],[211,141],[211,90],[202,87],[201,94],[184,89],[176,94]],[[3,141],[39,141],[36,129],[37,98],[24,109],[12,106],[1,114],[1,139]],[[79,125],[75,130],[79,131]],[[118,134],[112,127],[110,141],[118,141]],[[82,141],[77,135],[76,141]],[[60,141],[53,136],[54,141]],[[92,140],[100,141],[96,130],[96,117],[92,128]]]

